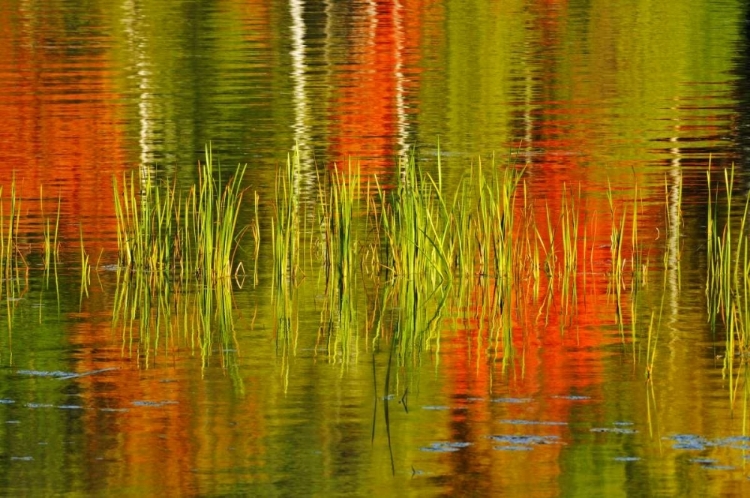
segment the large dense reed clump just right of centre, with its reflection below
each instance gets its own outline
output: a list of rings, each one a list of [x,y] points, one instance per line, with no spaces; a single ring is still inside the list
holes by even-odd
[[[383,335],[386,309],[400,364],[440,344],[441,322],[455,291],[479,283],[481,309],[490,334],[487,347],[503,366],[513,358],[511,295],[518,261],[514,242],[515,202],[523,169],[481,161],[458,183],[453,194],[425,172],[415,154],[401,163],[399,181],[391,191],[378,184],[378,233],[388,284],[381,288],[370,321],[373,340]],[[459,297],[458,302],[463,298]]]

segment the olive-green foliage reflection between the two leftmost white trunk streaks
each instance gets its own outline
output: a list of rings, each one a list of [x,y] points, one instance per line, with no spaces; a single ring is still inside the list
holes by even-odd
[[[133,100],[128,132],[141,168],[189,165],[209,141],[226,157],[230,147],[252,142],[255,149],[270,138],[272,104],[281,107],[272,89],[284,95],[279,90],[288,87],[266,67],[279,50],[272,46],[280,38],[271,30],[280,24],[273,9],[261,2],[128,1],[122,10],[113,54],[126,70],[118,84]]]

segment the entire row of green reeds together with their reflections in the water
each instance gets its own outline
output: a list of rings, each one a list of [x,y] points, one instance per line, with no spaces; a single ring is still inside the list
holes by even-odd
[[[415,153],[404,158],[392,186],[381,184],[377,176],[364,177],[350,162],[317,173],[312,205],[302,199],[301,169],[295,150],[277,176],[270,222],[271,295],[284,376],[301,333],[300,286],[318,282],[322,289],[316,354],[324,352],[345,368],[358,361],[363,349],[389,351],[392,362],[383,375],[390,380],[383,396],[406,399],[409,380],[404,374],[419,365],[424,352],[440,353],[446,327],[457,331],[466,325],[474,331],[477,362],[486,360],[501,372],[523,376],[531,331],[557,320],[560,335],[567,334],[575,327],[578,303],[601,274],[607,276],[608,302],[622,343],[629,345],[635,362],[645,353],[647,378],[657,374],[664,301],[649,305],[640,293],[649,285],[650,269],[662,272],[664,289],[668,275],[679,278],[681,185],[667,185],[662,198],[666,235],[646,237],[643,219],[653,225],[662,215],[654,214],[657,201],[644,201],[644,190],[635,181],[608,184],[600,217],[586,209],[598,193],[561,185],[558,205],[541,202],[529,195],[523,167],[500,166],[494,158],[477,161],[452,189],[443,185],[440,154],[431,172]],[[219,351],[222,364],[236,368],[232,281],[244,277],[246,266],[235,257],[249,230],[254,251],[245,254],[254,254],[253,284],[259,285],[260,244],[268,240],[262,237],[257,193],[254,210],[246,208],[250,222],[240,224],[241,218],[248,219],[240,216],[244,171],[238,167],[223,181],[207,147],[199,182],[188,189],[135,176],[124,178],[122,185],[113,182],[119,257],[113,323],[122,331],[123,354],[142,366],[179,343],[200,352],[204,367],[211,353]],[[731,379],[732,403],[738,386],[747,386],[744,359],[750,329],[747,203],[742,216],[735,216],[733,178],[734,172],[727,171],[723,182],[714,183],[709,175],[706,244],[709,317],[715,329],[726,330],[724,370]],[[28,251],[18,239],[20,204],[12,185],[0,217],[9,330],[12,303],[23,294],[30,268]],[[608,223],[601,222],[607,218]],[[42,212],[42,261],[48,276],[59,261],[59,225],[58,199],[54,233]],[[82,231],[80,235],[84,299],[92,263]],[[661,267],[660,258],[653,257],[659,253]],[[318,278],[308,278],[316,274]],[[240,385],[239,375],[236,380]],[[748,396],[744,399],[746,410]]]

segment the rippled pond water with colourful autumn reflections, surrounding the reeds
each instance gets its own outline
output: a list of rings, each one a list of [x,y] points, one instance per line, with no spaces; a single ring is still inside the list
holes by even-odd
[[[1,1],[0,489],[749,494],[750,321],[706,292],[707,171],[723,206],[735,166],[744,228],[749,47],[740,0]],[[130,275],[113,178],[180,190],[209,142],[224,171],[247,164],[258,259],[248,231],[220,288]],[[295,148],[302,262],[280,281]],[[503,294],[470,272],[436,301],[444,284],[368,271],[368,199],[408,154],[451,199],[480,163],[522,170],[514,240],[541,276]],[[315,210],[350,163],[369,221],[334,309]]]

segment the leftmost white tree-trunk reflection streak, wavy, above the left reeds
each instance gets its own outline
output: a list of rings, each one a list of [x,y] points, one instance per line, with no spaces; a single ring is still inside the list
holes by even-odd
[[[152,94],[149,92],[152,84],[150,81],[151,72],[148,69],[148,62],[143,51],[143,42],[141,37],[136,32],[136,26],[142,22],[138,19],[136,13],[135,3],[133,0],[126,0],[123,3],[123,10],[125,14],[122,17],[122,23],[125,27],[125,33],[127,34],[128,48],[135,59],[136,77],[138,78],[138,88],[141,93],[138,98],[138,116],[140,122],[140,130],[138,133],[138,145],[140,149],[140,173],[141,181],[144,182],[148,178],[155,175],[153,169],[153,151],[151,150],[150,144],[153,143],[154,130],[152,126],[152,105],[153,99]]]

